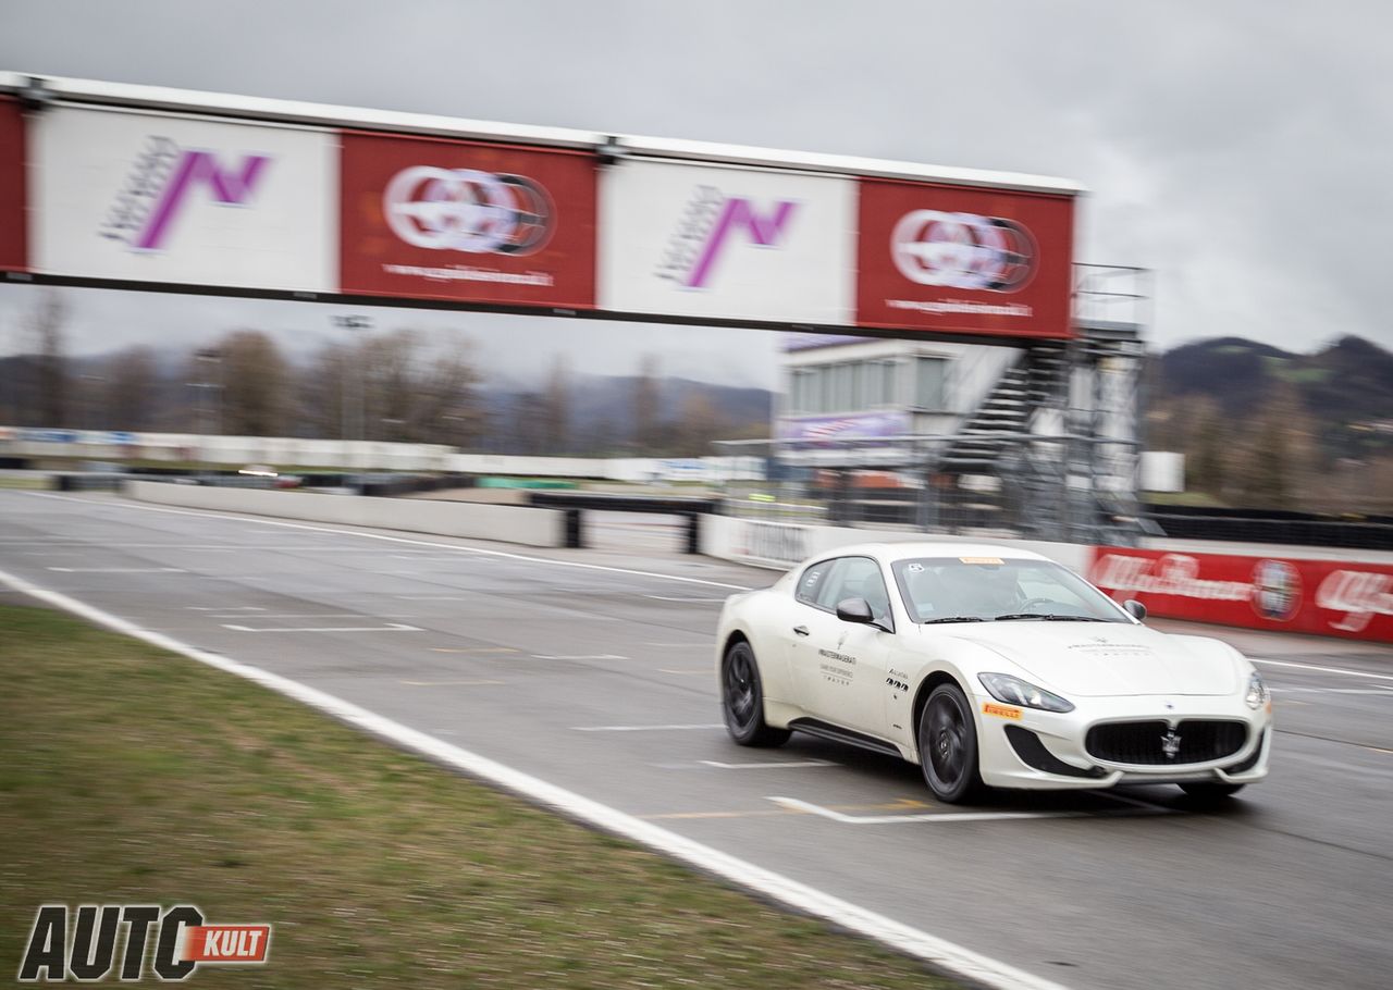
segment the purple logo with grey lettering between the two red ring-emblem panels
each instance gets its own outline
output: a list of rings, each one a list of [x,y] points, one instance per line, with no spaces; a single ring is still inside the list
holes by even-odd
[[[706,288],[712,269],[733,234],[744,231],[752,244],[776,248],[797,205],[779,199],[761,213],[745,196],[727,196],[712,185],[698,187],[657,276],[673,278],[684,288]]]

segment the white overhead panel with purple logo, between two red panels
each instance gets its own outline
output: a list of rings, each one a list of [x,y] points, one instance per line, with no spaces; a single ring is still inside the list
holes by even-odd
[[[602,309],[853,322],[854,180],[620,160],[599,214]]]

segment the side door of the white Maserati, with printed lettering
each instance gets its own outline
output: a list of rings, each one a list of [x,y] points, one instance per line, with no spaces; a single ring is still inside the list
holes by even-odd
[[[894,632],[844,622],[836,614],[839,602],[866,599],[878,620],[893,628],[880,565],[871,557],[839,557],[815,583],[816,592],[800,599],[805,632],[795,632],[801,646],[790,664],[800,707],[825,721],[885,737],[885,678]]]

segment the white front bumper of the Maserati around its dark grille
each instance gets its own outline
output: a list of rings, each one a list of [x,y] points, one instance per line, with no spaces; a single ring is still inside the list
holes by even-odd
[[[978,695],[978,753],[982,783],[1029,789],[1092,789],[1119,784],[1248,784],[1268,776],[1272,706],[1256,712],[1241,698],[1098,698],[1075,699],[1073,712],[1039,712],[1000,705]],[[1172,707],[1166,707],[1166,705]],[[1085,749],[1088,730],[1103,723],[1227,720],[1247,727],[1236,752],[1198,763],[1117,763]],[[1162,738],[1156,738],[1158,759]]]

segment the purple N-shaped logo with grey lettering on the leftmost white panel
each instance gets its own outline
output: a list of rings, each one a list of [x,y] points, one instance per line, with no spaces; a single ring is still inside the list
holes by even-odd
[[[270,157],[244,155],[223,167],[208,150],[184,150],[169,138],[150,138],[117,195],[102,235],[125,241],[134,251],[159,251],[188,195],[208,187],[215,203],[247,206]]]

